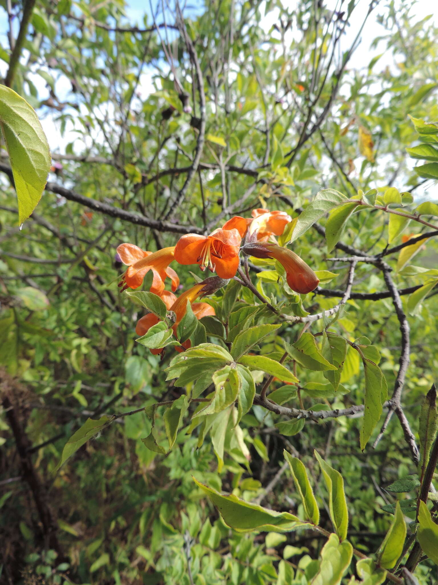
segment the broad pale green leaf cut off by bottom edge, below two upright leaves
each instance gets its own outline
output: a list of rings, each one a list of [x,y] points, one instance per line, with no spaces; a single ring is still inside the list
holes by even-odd
[[[310,585],[339,585],[353,558],[353,547],[348,541],[339,542],[331,534],[321,550],[321,564]]]

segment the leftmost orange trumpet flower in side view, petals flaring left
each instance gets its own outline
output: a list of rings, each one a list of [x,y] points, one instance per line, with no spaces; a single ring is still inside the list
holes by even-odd
[[[164,281],[166,277],[172,280],[172,290],[175,291],[179,285],[178,274],[175,270],[169,268],[169,264],[174,259],[175,246],[162,248],[157,252],[145,252],[134,244],[120,244],[117,247],[117,254],[123,264],[128,269],[123,274],[119,287],[121,290],[126,288],[138,288],[143,282],[149,270],[152,270],[154,278],[152,279],[151,292],[161,295],[164,291]]]

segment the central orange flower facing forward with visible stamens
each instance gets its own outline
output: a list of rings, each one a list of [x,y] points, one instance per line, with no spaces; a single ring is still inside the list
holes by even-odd
[[[221,278],[232,278],[239,266],[239,250],[246,232],[246,219],[236,216],[209,236],[187,233],[175,246],[179,264],[199,264],[201,270],[216,271]]]

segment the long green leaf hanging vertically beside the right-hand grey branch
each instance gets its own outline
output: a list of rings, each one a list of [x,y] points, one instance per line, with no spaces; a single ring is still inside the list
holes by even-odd
[[[360,428],[360,448],[364,450],[374,427],[380,421],[388,386],[380,367],[371,360],[362,361],[365,370],[365,397],[363,423]]]

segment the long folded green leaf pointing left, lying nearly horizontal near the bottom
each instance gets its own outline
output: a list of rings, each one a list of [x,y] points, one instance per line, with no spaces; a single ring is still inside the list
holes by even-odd
[[[296,528],[308,528],[289,512],[274,512],[256,504],[249,504],[235,495],[222,495],[213,488],[205,486],[193,477],[194,483],[204,491],[220,512],[225,524],[237,532],[290,532]]]

